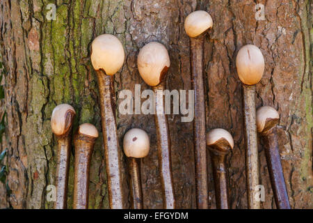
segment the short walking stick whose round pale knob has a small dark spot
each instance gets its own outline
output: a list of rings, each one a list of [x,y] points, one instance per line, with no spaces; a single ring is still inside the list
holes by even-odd
[[[143,188],[141,186],[141,158],[150,151],[150,140],[144,130],[133,128],[124,137],[123,148],[129,157],[131,171],[131,200],[132,208],[143,209]]]

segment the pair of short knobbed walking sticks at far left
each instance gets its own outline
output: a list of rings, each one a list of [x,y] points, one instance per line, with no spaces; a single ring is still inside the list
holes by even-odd
[[[61,104],[51,114],[51,129],[58,141],[56,169],[56,203],[54,208],[67,208],[67,181],[70,166],[71,130],[76,112],[71,105]],[[89,167],[98,131],[94,125],[79,125],[74,135],[74,199],[73,208],[88,208]]]

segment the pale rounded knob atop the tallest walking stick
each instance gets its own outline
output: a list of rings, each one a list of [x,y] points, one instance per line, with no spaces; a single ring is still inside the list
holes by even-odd
[[[198,10],[190,13],[185,19],[185,31],[189,37],[195,38],[213,26],[211,15],[206,11]]]

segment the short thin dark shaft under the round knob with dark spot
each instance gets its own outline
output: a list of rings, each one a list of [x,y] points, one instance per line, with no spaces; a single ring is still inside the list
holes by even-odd
[[[141,187],[141,160],[129,158],[129,169],[131,172],[131,198],[132,208],[143,209],[143,190]]]

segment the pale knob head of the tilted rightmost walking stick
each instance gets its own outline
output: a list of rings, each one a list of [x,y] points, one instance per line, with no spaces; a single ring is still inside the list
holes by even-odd
[[[270,106],[263,106],[257,109],[257,132],[266,132],[280,120],[280,114]]]

